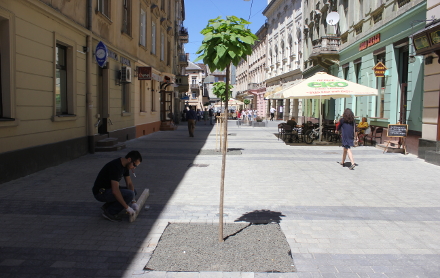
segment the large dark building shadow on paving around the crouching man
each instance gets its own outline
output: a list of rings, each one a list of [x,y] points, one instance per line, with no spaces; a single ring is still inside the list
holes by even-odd
[[[124,277],[142,270],[155,247],[147,239],[162,232],[152,228],[213,128],[198,124],[190,138],[185,124],[0,184],[0,276]],[[92,186],[107,162],[131,150],[143,156],[135,188],[150,190],[147,204],[155,209],[133,223],[110,222]]]

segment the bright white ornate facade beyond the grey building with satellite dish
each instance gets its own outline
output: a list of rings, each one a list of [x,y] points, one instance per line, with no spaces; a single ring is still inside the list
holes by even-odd
[[[277,119],[287,120],[301,115],[301,102],[274,98],[274,93],[302,78],[302,1],[273,0],[263,15],[268,23],[265,96],[270,101],[266,113],[273,107]]]

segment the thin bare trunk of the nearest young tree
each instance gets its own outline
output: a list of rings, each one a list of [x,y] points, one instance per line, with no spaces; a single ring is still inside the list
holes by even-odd
[[[226,67],[226,89],[225,89],[225,112],[223,113],[223,141],[222,141],[222,172],[220,180],[220,213],[219,213],[219,233],[218,240],[223,242],[223,199],[225,195],[225,170],[226,170],[226,153],[227,153],[227,140],[228,140],[228,100],[229,100],[229,65]]]

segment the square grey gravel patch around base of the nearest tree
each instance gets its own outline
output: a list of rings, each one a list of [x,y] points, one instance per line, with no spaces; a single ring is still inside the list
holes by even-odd
[[[295,272],[278,224],[218,225],[170,223],[146,265],[156,271]]]

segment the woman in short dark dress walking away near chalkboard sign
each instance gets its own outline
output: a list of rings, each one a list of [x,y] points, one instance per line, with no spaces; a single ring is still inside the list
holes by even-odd
[[[344,166],[345,158],[350,159],[351,166],[350,170],[353,170],[356,166],[353,159],[353,153],[351,152],[350,147],[354,146],[354,135],[355,135],[355,122],[354,122],[354,114],[350,108],[346,108],[344,111],[344,115],[342,115],[342,119],[339,121],[338,131],[342,132],[342,147],[344,151],[342,153],[342,162],[338,162],[340,165]]]

